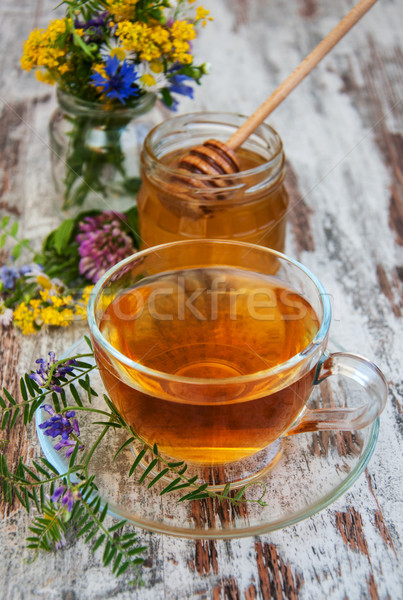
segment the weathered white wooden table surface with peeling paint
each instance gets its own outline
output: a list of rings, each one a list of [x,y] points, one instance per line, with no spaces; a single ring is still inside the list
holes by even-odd
[[[0,4],[0,209],[37,245],[53,228],[47,123],[54,90],[19,67],[22,42],[51,18],[50,0]],[[197,53],[212,65],[190,110],[251,113],[352,7],[352,0],[209,0],[215,21]],[[288,158],[287,253],[332,296],[331,335],[386,375],[389,399],[375,453],[358,481],[322,512],[286,529],[232,541],[193,541],[140,530],[145,587],[116,580],[87,546],[24,560],[29,519],[1,508],[0,598],[403,597],[403,3],[381,0],[270,117]],[[23,338],[1,332],[3,384],[82,329]],[[16,427],[7,449],[38,454]]]

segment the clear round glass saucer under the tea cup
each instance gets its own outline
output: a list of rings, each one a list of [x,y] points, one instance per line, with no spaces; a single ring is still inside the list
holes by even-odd
[[[67,350],[63,358],[87,350],[84,339],[81,339]],[[93,402],[93,405],[102,407],[104,389],[101,378],[97,370],[90,375],[91,386],[99,394],[97,404]],[[341,382],[332,377],[331,385],[325,381],[315,388],[309,406],[343,406],[347,397],[350,406],[352,401],[359,403],[360,393],[356,386],[354,382],[346,385],[345,380]],[[56,442],[39,428],[48,417],[43,409],[38,409],[37,435],[46,458],[59,473],[64,473],[68,467],[64,452],[54,450]],[[81,440],[84,444],[91,444],[100,432],[100,426],[93,425],[93,421],[99,419],[96,414],[87,412],[77,413],[77,418]],[[186,538],[247,537],[293,525],[344,494],[368,464],[378,430],[379,419],[360,431],[324,431],[283,438],[276,464],[259,479],[266,486],[265,507],[250,502],[234,506],[211,498],[178,503],[178,498],[183,495],[181,491],[160,496],[164,487],[161,482],[151,489],[147,489],[147,480],[138,484],[141,468],[129,478],[133,449],[126,448],[113,462],[112,458],[127,439],[127,433],[112,428],[93,455],[91,473],[96,474],[96,483],[101,497],[108,502],[109,513],[143,529]],[[260,495],[261,486],[258,484],[247,490],[249,498]]]

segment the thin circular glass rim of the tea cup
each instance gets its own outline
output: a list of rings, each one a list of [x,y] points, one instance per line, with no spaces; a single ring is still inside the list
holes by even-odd
[[[179,375],[173,375],[170,373],[165,373],[164,371],[158,371],[156,369],[146,367],[145,365],[142,365],[141,363],[134,361],[134,360],[128,358],[127,356],[125,356],[124,354],[122,354],[121,352],[119,352],[119,350],[117,350],[114,346],[112,346],[112,344],[110,344],[104,338],[104,336],[102,335],[102,333],[96,323],[96,319],[95,319],[95,303],[102,291],[102,288],[104,287],[104,284],[106,282],[108,282],[108,280],[119,269],[126,266],[131,261],[141,259],[144,256],[151,254],[152,252],[158,252],[158,250],[161,251],[164,248],[167,248],[169,246],[180,247],[180,246],[186,246],[186,245],[195,244],[195,243],[205,244],[205,245],[211,245],[211,244],[236,245],[236,246],[243,246],[245,249],[256,249],[257,248],[262,252],[277,256],[278,258],[285,260],[288,263],[291,263],[292,265],[296,266],[301,271],[303,271],[304,274],[306,276],[308,276],[308,278],[312,281],[312,283],[315,285],[317,291],[319,292],[319,297],[320,297],[322,310],[323,310],[322,321],[321,321],[320,327],[319,327],[314,339],[298,354],[295,354],[294,356],[289,358],[287,361],[285,361],[279,365],[276,365],[275,367],[271,367],[269,369],[262,369],[260,371],[256,371],[255,373],[251,373],[249,375],[238,375],[235,377],[225,377],[222,379],[184,377],[184,376],[179,376]],[[91,335],[102,346],[102,348],[104,350],[106,350],[106,352],[108,352],[109,354],[114,356],[117,360],[119,360],[124,365],[126,365],[132,369],[135,369],[135,370],[143,373],[144,375],[148,375],[148,376],[158,378],[158,379],[161,379],[164,381],[183,383],[183,384],[229,385],[229,384],[247,383],[247,382],[256,381],[256,380],[262,379],[262,378],[268,378],[273,375],[278,375],[281,372],[286,371],[287,369],[297,365],[298,363],[300,363],[302,361],[306,361],[308,358],[312,357],[327,337],[329,327],[330,327],[330,322],[331,322],[331,305],[330,305],[330,300],[326,293],[326,290],[325,290],[324,286],[322,285],[322,283],[319,281],[319,279],[316,277],[316,275],[314,275],[302,263],[300,263],[299,261],[297,261],[293,258],[290,258],[289,256],[286,256],[282,252],[278,252],[277,250],[273,250],[271,248],[266,248],[264,246],[258,246],[257,244],[250,244],[249,242],[238,242],[238,241],[234,241],[234,240],[214,240],[214,239],[178,240],[178,241],[170,242],[167,244],[151,246],[150,248],[141,250],[140,252],[137,252],[136,254],[132,254],[131,256],[128,256],[127,258],[121,260],[119,263],[117,263],[116,265],[111,267],[106,273],[104,273],[104,275],[97,281],[97,283],[95,284],[94,288],[91,291],[90,298],[89,298],[88,305],[87,305],[87,320],[88,320],[88,325],[90,328]]]

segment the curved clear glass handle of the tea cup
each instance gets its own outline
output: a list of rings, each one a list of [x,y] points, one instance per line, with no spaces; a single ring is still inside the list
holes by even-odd
[[[359,383],[367,401],[354,408],[307,408],[285,435],[305,431],[352,431],[370,425],[385,408],[388,385],[376,365],[357,354],[325,352],[316,367],[314,385],[319,385],[331,375],[344,375]]]

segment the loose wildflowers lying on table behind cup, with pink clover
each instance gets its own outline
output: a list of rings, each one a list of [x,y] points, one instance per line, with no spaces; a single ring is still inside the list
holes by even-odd
[[[0,248],[13,242],[11,261],[0,267],[0,323],[24,335],[43,327],[67,327],[86,318],[92,284],[137,250],[137,210],[83,213],[66,219],[36,252],[18,237],[18,223],[0,221]],[[21,253],[29,261],[16,266]]]

